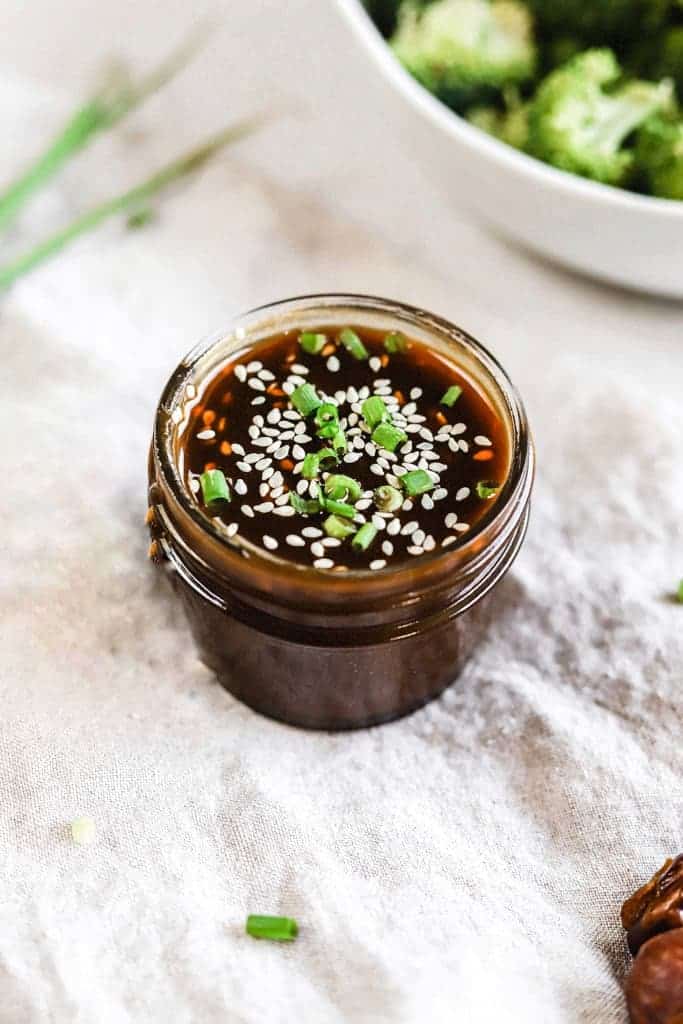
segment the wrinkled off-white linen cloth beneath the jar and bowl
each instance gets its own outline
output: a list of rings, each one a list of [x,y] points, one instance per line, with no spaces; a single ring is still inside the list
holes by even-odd
[[[216,24],[13,251],[234,116],[283,112],[158,224],[105,228],[0,308],[0,1021],[478,1024],[504,1001],[513,1022],[623,1024],[618,905],[681,846],[681,307],[463,220],[364,102],[372,71],[328,0],[189,6],[0,7],[0,177],[108,53],[152,62],[203,10]],[[140,527],[179,356],[326,289],[478,336],[541,467],[500,627],[458,687],[341,737],[213,685]],[[299,919],[294,946],[241,935],[268,910]]]

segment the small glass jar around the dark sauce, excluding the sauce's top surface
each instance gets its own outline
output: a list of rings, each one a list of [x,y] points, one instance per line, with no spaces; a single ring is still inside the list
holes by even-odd
[[[214,526],[184,482],[181,439],[190,409],[226,361],[280,331],[348,323],[403,331],[445,355],[498,412],[511,462],[492,512],[458,545],[394,569],[332,574]],[[168,381],[150,455],[151,556],[183,601],[202,659],[236,697],[292,725],[376,725],[436,697],[492,627],[495,588],[526,530],[532,477],[521,401],[496,359],[460,328],[386,299],[290,299],[238,317]]]

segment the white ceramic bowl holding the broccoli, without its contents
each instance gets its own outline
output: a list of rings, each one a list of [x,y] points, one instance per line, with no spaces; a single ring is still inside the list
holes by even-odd
[[[683,298],[683,202],[651,199],[548,167],[450,111],[401,68],[360,0],[337,4],[378,74],[383,115],[422,154],[454,204],[558,263]],[[373,97],[369,97],[370,99]]]

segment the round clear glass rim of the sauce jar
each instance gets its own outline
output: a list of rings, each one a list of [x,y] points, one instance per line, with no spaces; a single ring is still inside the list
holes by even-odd
[[[173,458],[168,443],[170,432],[178,424],[178,419],[174,420],[174,411],[179,410],[179,394],[185,392],[188,377],[198,364],[221,342],[231,337],[236,340],[244,339],[244,347],[248,349],[249,330],[256,328],[259,317],[261,321],[271,319],[274,331],[286,313],[293,317],[297,312],[319,313],[323,317],[326,313],[332,314],[342,309],[357,314],[365,311],[386,315],[397,324],[402,324],[407,330],[413,325],[414,328],[431,332],[434,336],[438,335],[442,340],[466,349],[498,388],[499,397],[509,417],[510,465],[490,517],[484,517],[477,523],[462,542],[449,548],[425,552],[416,560],[415,565],[402,563],[375,570],[347,569],[342,573],[334,569],[318,569],[294,563],[276,552],[261,549],[241,539],[239,535],[228,538],[201,512],[182,479],[177,460]],[[233,317],[226,328],[195,345],[171,374],[162,392],[155,417],[152,459],[158,481],[171,506],[166,508],[170,518],[169,525],[175,527],[173,532],[176,535],[189,528],[196,541],[204,542],[201,544],[203,556],[200,560],[213,571],[219,571],[228,579],[234,573],[249,586],[247,579],[257,575],[260,569],[268,574],[268,590],[278,589],[279,581],[292,590],[298,581],[323,594],[330,590],[332,583],[336,594],[343,594],[344,597],[360,585],[364,594],[370,597],[389,591],[415,592],[442,579],[450,579],[453,584],[454,574],[459,574],[464,569],[468,575],[475,572],[477,563],[485,561],[484,556],[494,539],[506,531],[506,526],[514,527],[527,504],[533,478],[535,453],[526,413],[515,386],[498,359],[472,335],[444,317],[403,302],[373,295],[330,292],[301,295],[256,306]],[[244,557],[245,553],[247,558]],[[197,552],[194,554],[197,555]]]

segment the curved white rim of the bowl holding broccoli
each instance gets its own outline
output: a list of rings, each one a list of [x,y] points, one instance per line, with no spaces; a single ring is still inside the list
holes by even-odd
[[[356,36],[396,89],[452,138],[482,151],[494,163],[506,170],[511,169],[523,174],[539,184],[554,187],[567,195],[581,196],[592,202],[607,203],[612,208],[634,214],[654,214],[657,217],[683,221],[683,202],[680,200],[641,196],[639,193],[603,184],[600,181],[591,181],[578,174],[562,171],[550,164],[544,164],[536,157],[514,150],[506,142],[501,142],[475,125],[469,124],[465,118],[456,114],[420,85],[393,56],[361,0],[336,0],[336,3]]]

